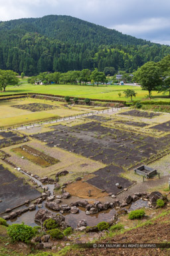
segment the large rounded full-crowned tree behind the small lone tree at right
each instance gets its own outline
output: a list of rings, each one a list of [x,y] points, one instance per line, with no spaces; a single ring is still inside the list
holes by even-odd
[[[151,91],[157,90],[163,82],[161,79],[161,69],[157,63],[149,61],[137,69],[133,80],[140,83],[141,88],[149,92],[150,99]]]

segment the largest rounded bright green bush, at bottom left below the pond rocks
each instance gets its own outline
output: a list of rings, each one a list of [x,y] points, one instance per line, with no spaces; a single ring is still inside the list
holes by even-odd
[[[35,231],[33,227],[22,224],[13,224],[8,227],[8,234],[13,241],[27,242],[33,238]]]

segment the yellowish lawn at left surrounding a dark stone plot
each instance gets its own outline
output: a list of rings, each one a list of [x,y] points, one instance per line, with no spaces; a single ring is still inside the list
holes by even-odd
[[[47,104],[56,107],[56,109],[49,109],[42,111],[41,107],[36,112],[30,111],[29,107],[26,109],[19,109],[13,105],[30,105],[33,103]],[[27,123],[35,123],[37,121],[47,119],[58,119],[60,117],[68,117],[71,115],[78,115],[88,113],[92,109],[79,108],[79,107],[64,107],[61,102],[44,101],[42,99],[15,99],[9,101],[1,101],[1,117],[0,127],[10,127],[12,125],[22,125]]]

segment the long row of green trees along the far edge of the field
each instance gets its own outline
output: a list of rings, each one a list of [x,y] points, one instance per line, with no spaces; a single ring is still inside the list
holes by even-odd
[[[71,84],[87,84],[91,83],[94,85],[98,85],[99,83],[106,83],[106,75],[104,72],[98,71],[98,69],[94,69],[94,71],[90,71],[90,69],[83,69],[82,71],[68,71],[66,73],[54,72],[54,73],[40,73],[36,77],[29,77],[29,83],[37,83],[37,84],[51,84],[51,83],[71,83]]]

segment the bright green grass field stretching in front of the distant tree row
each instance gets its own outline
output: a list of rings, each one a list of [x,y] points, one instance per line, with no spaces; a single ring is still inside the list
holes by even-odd
[[[1,92],[0,95],[8,95],[12,93],[48,93],[54,95],[64,95],[72,97],[88,97],[90,99],[110,99],[130,101],[130,98],[124,97],[124,90],[134,89],[137,93],[135,100],[145,99],[148,95],[147,91],[141,90],[141,87],[133,87],[130,85],[100,85],[99,87],[89,85],[31,85],[28,83],[22,83],[19,86],[7,87],[6,92]],[[118,93],[122,93],[121,97]],[[153,91],[153,96],[160,96],[162,93]],[[160,101],[161,98],[154,99],[154,101]],[[169,101],[170,99],[163,99]]]

